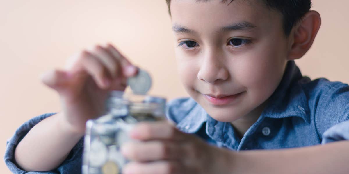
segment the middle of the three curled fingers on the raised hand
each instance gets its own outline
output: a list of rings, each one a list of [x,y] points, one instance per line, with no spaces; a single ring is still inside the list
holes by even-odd
[[[103,48],[102,46],[97,45],[92,49],[92,53],[109,70],[109,73],[111,74],[112,78],[117,77],[121,74],[119,61],[113,58],[113,55],[111,55],[106,48]]]

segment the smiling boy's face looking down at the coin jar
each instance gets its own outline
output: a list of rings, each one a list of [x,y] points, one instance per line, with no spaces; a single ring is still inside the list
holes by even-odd
[[[187,92],[218,121],[259,117],[279,85],[289,40],[257,0],[172,0],[176,58]]]

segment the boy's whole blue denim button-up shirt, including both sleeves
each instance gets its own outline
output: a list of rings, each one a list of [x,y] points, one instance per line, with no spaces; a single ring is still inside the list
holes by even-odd
[[[168,103],[166,116],[183,132],[196,134],[208,143],[231,150],[282,149],[349,140],[349,86],[321,78],[303,77],[294,61],[267,101],[259,119],[242,138],[229,122],[211,118],[192,98]],[[25,122],[7,142],[5,163],[13,173],[26,173],[14,164],[18,142],[39,121],[54,113]],[[54,171],[35,173],[81,173],[83,138]]]

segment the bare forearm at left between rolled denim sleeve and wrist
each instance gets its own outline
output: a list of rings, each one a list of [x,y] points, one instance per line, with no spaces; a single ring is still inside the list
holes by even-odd
[[[40,121],[17,145],[15,161],[22,169],[50,171],[58,167],[81,139],[83,134],[68,127],[61,114]]]

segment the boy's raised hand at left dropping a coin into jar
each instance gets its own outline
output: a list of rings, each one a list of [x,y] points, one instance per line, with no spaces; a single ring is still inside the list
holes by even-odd
[[[125,90],[137,68],[111,44],[81,51],[68,66],[45,73],[42,81],[61,97],[61,125],[83,135],[86,121],[103,114],[109,91]]]

